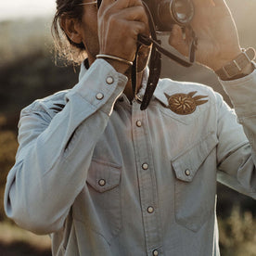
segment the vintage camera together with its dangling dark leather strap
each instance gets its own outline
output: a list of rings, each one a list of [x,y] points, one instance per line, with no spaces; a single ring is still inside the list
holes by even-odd
[[[97,0],[97,7],[102,0]],[[118,1],[118,0],[117,0]],[[161,54],[173,59],[184,67],[190,67],[195,61],[195,52],[198,45],[198,38],[190,26],[194,18],[195,9],[192,0],[142,0],[145,6],[150,30],[150,36],[138,35],[138,48],[140,45],[151,45],[151,55],[149,61],[149,76],[147,88],[143,99],[137,97],[136,84],[136,62],[137,53],[132,67],[132,87],[134,98],[141,103],[141,110],[147,109],[151,97],[156,89],[160,78]],[[183,31],[189,31],[191,37],[189,60],[180,58],[172,52],[164,49],[158,39],[157,33],[172,32],[173,24],[178,24]],[[186,33],[184,33],[186,34]]]

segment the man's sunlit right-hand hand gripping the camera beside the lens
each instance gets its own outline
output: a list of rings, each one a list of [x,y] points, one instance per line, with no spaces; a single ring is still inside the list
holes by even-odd
[[[198,37],[196,60],[198,63],[218,70],[241,53],[237,27],[224,0],[194,0],[195,17],[191,27]],[[183,39],[179,26],[173,26],[169,43],[180,53],[188,56],[188,32]]]

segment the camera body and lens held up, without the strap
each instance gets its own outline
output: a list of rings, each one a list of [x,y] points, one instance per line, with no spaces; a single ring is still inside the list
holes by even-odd
[[[171,32],[173,24],[185,27],[194,17],[191,0],[143,0],[148,6],[156,31]]]

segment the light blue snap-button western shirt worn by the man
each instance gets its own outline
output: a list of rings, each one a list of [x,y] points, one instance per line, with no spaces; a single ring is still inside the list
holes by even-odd
[[[97,59],[72,89],[22,110],[7,216],[51,233],[58,256],[219,255],[217,180],[255,198],[256,71],[222,82],[243,127],[207,86],[162,79],[141,111],[126,83]],[[208,101],[168,108],[191,92]]]

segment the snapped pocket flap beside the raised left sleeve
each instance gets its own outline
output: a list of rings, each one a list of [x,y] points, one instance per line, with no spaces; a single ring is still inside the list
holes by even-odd
[[[98,192],[105,192],[120,184],[121,166],[93,160],[86,182]]]

